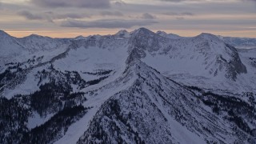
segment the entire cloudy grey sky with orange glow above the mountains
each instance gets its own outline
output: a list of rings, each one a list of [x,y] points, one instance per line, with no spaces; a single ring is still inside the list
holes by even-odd
[[[139,27],[256,38],[256,0],[0,0],[0,29],[16,37],[73,38]]]

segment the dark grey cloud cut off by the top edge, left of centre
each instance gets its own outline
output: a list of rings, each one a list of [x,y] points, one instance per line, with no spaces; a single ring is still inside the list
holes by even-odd
[[[78,7],[78,8],[108,8],[110,0],[30,0],[42,7]]]

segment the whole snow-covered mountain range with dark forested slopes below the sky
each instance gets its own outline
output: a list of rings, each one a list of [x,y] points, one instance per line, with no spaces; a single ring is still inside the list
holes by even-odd
[[[0,143],[256,142],[256,50],[145,28],[0,37]]]

